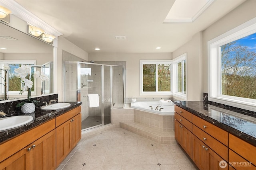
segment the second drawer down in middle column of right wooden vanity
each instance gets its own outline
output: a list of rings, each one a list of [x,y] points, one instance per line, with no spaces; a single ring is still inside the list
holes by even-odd
[[[208,147],[210,147],[214,152],[220,155],[224,160],[228,161],[228,147],[196,127],[192,126],[193,134],[198,137],[202,142],[204,142]]]

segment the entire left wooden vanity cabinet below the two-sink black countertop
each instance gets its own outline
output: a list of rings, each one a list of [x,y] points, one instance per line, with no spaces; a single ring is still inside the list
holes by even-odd
[[[0,170],[55,170],[80,139],[78,106],[1,143]]]

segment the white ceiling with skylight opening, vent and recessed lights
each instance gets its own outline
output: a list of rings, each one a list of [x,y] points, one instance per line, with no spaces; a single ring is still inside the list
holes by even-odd
[[[173,52],[245,0],[215,0],[193,22],[163,23],[174,1],[16,0],[88,53]]]

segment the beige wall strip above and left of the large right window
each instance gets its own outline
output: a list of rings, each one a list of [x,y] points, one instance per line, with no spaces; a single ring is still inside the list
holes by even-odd
[[[208,93],[207,42],[256,17],[256,1],[247,0],[203,31],[203,91]]]

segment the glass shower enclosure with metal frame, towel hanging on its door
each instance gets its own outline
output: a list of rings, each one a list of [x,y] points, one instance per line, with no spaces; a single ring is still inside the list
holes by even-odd
[[[125,103],[125,67],[87,62],[65,62],[66,102],[83,102],[82,131],[111,123],[111,109]],[[88,94],[98,94],[99,106],[89,107]]]

